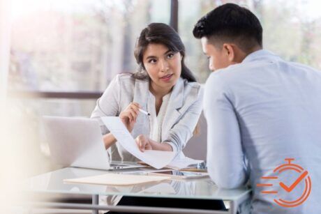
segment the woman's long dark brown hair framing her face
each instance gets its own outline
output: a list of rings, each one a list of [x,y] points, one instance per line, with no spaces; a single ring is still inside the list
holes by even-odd
[[[140,33],[137,39],[134,55],[138,64],[137,72],[133,73],[136,79],[148,79],[149,76],[144,68],[143,54],[149,44],[162,44],[168,47],[171,52],[179,52],[181,59],[181,77],[187,79],[188,82],[196,82],[191,70],[189,70],[184,63],[185,47],[179,38],[179,34],[172,29],[171,26],[163,23],[151,23]]]

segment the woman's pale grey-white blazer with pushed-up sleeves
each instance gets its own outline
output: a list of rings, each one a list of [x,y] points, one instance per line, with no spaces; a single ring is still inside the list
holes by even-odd
[[[149,94],[149,80],[133,78],[130,74],[120,74],[115,77],[97,100],[91,118],[100,121],[102,133],[109,131],[100,120],[100,116],[119,116],[130,102],[137,102],[142,109],[147,110]],[[169,142],[174,146],[177,155],[184,155],[181,151],[186,146],[188,139],[193,136],[193,130],[202,112],[202,89],[197,82],[188,82],[179,78],[172,89],[167,110],[163,119],[161,141]],[[133,128],[132,135],[149,136],[149,117],[139,114]],[[120,144],[114,144],[108,150],[111,160],[137,161],[133,155],[128,153]]]

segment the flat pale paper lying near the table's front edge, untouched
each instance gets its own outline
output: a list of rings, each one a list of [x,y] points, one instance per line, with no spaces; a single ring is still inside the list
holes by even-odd
[[[97,185],[136,185],[155,181],[168,180],[167,176],[137,176],[130,174],[102,174],[99,176],[89,176],[84,178],[64,179],[66,183],[87,183]]]

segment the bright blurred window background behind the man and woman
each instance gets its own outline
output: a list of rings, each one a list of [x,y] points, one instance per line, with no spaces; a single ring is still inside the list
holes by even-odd
[[[1,89],[6,92],[2,93],[6,111],[1,110],[5,114],[1,130],[9,137],[2,142],[15,142],[13,153],[26,157],[17,164],[33,158],[35,167],[29,176],[57,167],[51,164],[41,137],[40,116],[89,117],[112,78],[136,70],[135,40],[151,22],[177,29],[186,45],[186,64],[201,83],[210,72],[200,40],[193,38],[193,26],[202,15],[227,2],[246,6],[259,17],[265,49],[283,59],[321,68],[318,0],[0,0],[3,2],[8,11],[1,5],[6,13],[1,13],[0,32],[6,31],[8,38],[0,47],[5,51],[8,46],[8,54],[0,57]]]

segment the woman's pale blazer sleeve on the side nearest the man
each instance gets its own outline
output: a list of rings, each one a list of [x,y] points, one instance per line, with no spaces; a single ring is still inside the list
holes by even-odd
[[[203,90],[200,89],[197,100],[181,116],[181,119],[170,130],[169,137],[164,140],[164,142],[172,146],[176,155],[181,153],[188,140],[193,136],[193,131],[202,112],[202,101]]]

